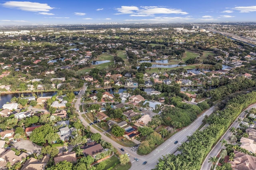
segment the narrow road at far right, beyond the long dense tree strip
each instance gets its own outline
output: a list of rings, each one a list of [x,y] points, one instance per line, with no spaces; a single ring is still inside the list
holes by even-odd
[[[252,108],[256,108],[256,104],[248,107],[246,110],[250,110]],[[240,119],[244,119],[244,114],[245,112],[243,111],[237,118],[236,120],[234,121],[234,123],[230,126],[230,128],[234,127],[234,128],[237,128],[238,127],[238,118]],[[229,128],[229,129],[230,129]],[[228,141],[228,136],[231,136],[231,132],[229,132],[229,130],[226,131],[226,133],[224,133],[224,135],[222,136],[222,138],[218,141],[218,143],[214,146],[214,148],[212,148],[212,150],[209,152],[209,154],[206,156],[203,164],[202,164],[202,167],[201,167],[201,170],[209,170],[212,166],[212,163],[211,162],[208,162],[208,159],[210,157],[213,157],[213,156],[217,156],[218,153],[220,152],[220,150],[222,149],[222,146],[221,146],[221,143],[220,141],[225,139]]]

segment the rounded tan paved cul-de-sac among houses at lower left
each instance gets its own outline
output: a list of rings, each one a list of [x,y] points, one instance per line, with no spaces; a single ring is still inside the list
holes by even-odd
[[[42,146],[38,146],[31,142],[30,140],[20,140],[16,143],[14,143],[14,147],[16,149],[25,149],[27,150],[28,154],[32,153],[40,153]]]

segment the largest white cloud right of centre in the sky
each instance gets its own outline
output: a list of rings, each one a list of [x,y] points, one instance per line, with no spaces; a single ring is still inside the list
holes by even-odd
[[[116,8],[118,14],[132,14],[131,16],[154,16],[154,14],[188,14],[180,9],[162,8],[158,6],[121,6]]]

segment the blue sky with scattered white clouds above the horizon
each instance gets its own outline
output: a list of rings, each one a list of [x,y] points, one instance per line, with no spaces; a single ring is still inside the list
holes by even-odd
[[[106,22],[256,22],[256,1],[0,0],[0,26]]]

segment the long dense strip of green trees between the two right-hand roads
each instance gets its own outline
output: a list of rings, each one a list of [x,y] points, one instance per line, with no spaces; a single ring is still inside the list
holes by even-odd
[[[168,154],[158,159],[155,170],[199,170],[205,156],[213,144],[228,130],[230,124],[249,105],[256,102],[256,92],[237,95],[226,103],[223,111],[216,111],[208,118],[210,124],[206,129],[197,130],[188,136],[189,142],[184,142],[178,150],[181,154]]]

